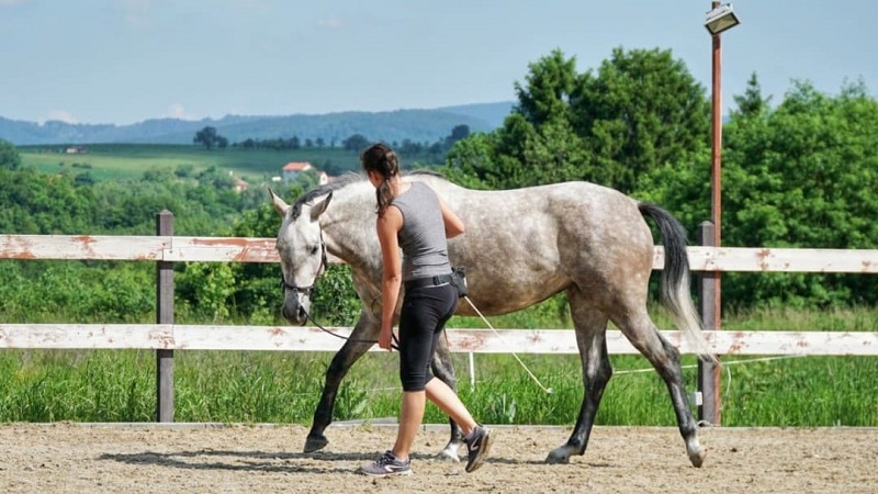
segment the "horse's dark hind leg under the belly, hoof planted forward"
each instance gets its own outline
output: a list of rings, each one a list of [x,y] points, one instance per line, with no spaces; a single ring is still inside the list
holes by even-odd
[[[573,434],[566,444],[549,453],[547,463],[567,463],[571,454],[585,452],[604,389],[612,377],[612,367],[607,355],[607,316],[578,288],[567,290],[567,299],[583,364],[585,393]]]

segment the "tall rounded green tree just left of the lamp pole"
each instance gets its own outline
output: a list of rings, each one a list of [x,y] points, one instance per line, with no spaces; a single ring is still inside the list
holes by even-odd
[[[627,193],[649,170],[693,160],[710,137],[705,90],[671,50],[615,48],[583,75],[571,108],[576,134],[609,172],[603,183]]]

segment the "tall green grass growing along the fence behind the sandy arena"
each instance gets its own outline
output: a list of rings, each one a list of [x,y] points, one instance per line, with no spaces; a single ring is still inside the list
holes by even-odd
[[[537,327],[558,317],[542,306],[494,318],[496,327]],[[524,318],[522,318],[524,317]],[[660,327],[671,327],[661,322]],[[459,327],[474,327],[461,318]],[[761,310],[729,315],[727,330],[878,330],[878,310],[830,312]],[[177,422],[308,424],[333,355],[327,352],[177,351]],[[522,355],[553,392],[544,393],[508,355],[453,355],[459,392],[479,420],[491,424],[575,422],[583,396],[578,356]],[[396,353],[373,352],[351,369],[339,390],[335,419],[395,417],[399,406]],[[0,352],[2,422],[149,422],[155,419],[155,353],[117,350],[4,350]],[[684,356],[684,381],[696,386],[695,358]],[[728,357],[723,359],[724,426],[878,426],[878,358]],[[611,356],[616,371],[597,423],[675,425],[667,390],[640,356]],[[429,423],[447,419],[428,406]]]

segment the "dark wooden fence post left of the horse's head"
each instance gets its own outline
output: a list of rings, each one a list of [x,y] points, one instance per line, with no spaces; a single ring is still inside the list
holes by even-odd
[[[156,235],[173,236],[173,214],[156,214]],[[156,323],[173,324],[173,262],[156,267]],[[173,422],[173,350],[156,350],[156,422]]]

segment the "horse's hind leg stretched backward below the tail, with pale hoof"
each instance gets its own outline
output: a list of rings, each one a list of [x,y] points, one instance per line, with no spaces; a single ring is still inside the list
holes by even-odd
[[[667,391],[671,393],[674,413],[677,416],[679,434],[686,442],[686,453],[694,467],[701,467],[707,452],[698,441],[698,427],[689,409],[686,389],[683,385],[679,351],[662,337],[646,314],[645,307],[642,311],[630,311],[626,316],[616,323],[634,348],[646,357],[665,381]]]

